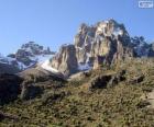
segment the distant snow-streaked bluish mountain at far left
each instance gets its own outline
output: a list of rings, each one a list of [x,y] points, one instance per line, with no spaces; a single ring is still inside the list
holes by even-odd
[[[51,51],[50,47],[44,48],[34,42],[29,42],[23,44],[14,54],[10,54],[7,57],[0,55],[0,64],[22,71],[52,58],[53,55],[55,55],[55,53]],[[2,66],[0,66],[0,68],[2,68]]]

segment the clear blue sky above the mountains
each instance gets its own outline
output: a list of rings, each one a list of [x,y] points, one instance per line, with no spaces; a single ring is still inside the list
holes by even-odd
[[[111,18],[130,35],[154,41],[154,9],[139,9],[138,0],[0,0],[0,53],[13,53],[29,41],[57,50],[73,43],[80,23]]]

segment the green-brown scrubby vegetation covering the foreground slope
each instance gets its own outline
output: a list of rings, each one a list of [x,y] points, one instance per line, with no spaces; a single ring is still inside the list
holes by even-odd
[[[100,73],[116,73],[125,69],[125,81],[106,89],[89,90],[89,81]],[[140,83],[128,81],[144,74]],[[44,82],[45,83],[45,82]],[[58,83],[58,82],[56,82]],[[47,84],[46,84],[47,85]],[[113,69],[94,70],[80,80],[72,80],[62,86],[46,86],[34,100],[20,101],[1,106],[4,113],[14,114],[19,120],[3,119],[1,127],[154,127],[154,108],[143,101],[154,89],[154,62],[139,59],[120,64]],[[54,84],[55,85],[55,84]]]

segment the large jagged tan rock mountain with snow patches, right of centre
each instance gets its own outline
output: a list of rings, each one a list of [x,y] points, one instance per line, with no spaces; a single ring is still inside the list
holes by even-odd
[[[153,56],[153,44],[146,43],[142,36],[131,37],[123,24],[110,19],[92,26],[81,24],[74,44],[63,45],[50,66],[69,76],[132,57]]]

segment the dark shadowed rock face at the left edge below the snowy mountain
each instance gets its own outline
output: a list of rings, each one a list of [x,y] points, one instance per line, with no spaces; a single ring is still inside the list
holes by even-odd
[[[21,92],[23,80],[14,74],[0,74],[0,105],[13,101]]]

